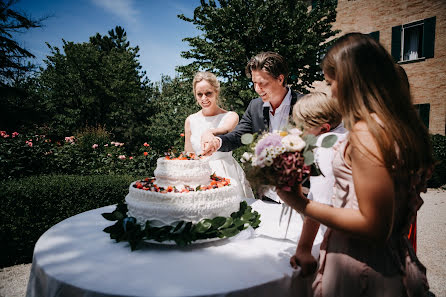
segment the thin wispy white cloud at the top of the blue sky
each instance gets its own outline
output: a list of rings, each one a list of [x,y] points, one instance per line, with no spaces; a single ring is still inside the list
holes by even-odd
[[[133,0],[91,0],[93,4],[121,18],[127,24],[138,25],[138,10]]]

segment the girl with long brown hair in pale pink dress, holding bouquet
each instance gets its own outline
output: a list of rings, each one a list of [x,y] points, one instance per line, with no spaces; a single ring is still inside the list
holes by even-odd
[[[333,206],[279,191],[329,227],[315,296],[425,296],[425,267],[407,234],[433,160],[429,135],[392,57],[373,38],[339,38],[322,63],[349,137],[333,160]]]

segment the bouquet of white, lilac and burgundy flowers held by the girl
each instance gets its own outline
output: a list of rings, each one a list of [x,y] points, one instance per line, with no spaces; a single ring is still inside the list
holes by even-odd
[[[321,147],[329,148],[336,140],[335,135],[328,135],[322,140]],[[249,149],[240,161],[244,163],[251,186],[259,194],[269,186],[291,191],[310,175],[320,175],[314,159],[316,141],[316,136],[303,135],[297,128],[259,135],[244,134],[242,143],[249,145]]]

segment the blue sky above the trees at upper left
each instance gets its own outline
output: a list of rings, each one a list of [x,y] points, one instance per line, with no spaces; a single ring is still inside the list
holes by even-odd
[[[117,25],[127,32],[131,46],[139,46],[139,61],[152,82],[161,74],[175,76],[175,66],[188,64],[180,57],[189,49],[185,37],[200,34],[191,23],[177,18],[193,16],[199,0],[19,0],[13,9],[34,19],[49,16],[42,28],[14,35],[20,45],[44,66],[49,49],[45,42],[62,49],[62,39],[88,42],[90,36],[107,35]]]

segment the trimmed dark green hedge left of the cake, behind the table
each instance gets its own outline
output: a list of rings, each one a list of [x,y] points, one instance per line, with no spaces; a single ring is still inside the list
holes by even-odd
[[[123,202],[138,178],[52,175],[0,181],[0,267],[30,263],[36,241],[51,226]]]

